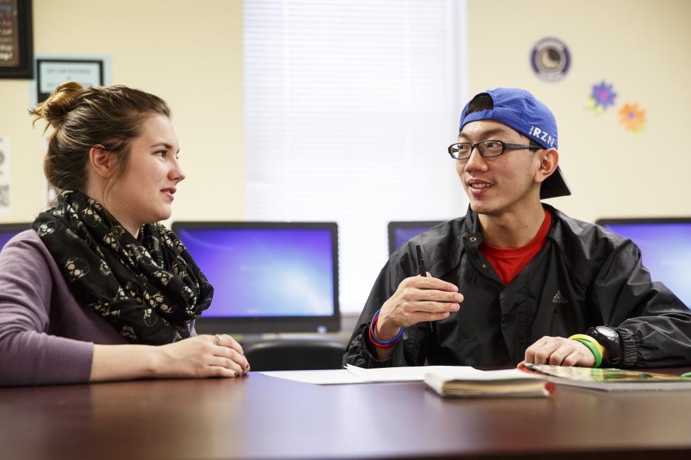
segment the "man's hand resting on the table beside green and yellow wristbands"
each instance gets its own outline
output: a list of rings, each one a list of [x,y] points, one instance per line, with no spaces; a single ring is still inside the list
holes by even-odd
[[[526,349],[524,362],[592,367],[595,365],[595,356],[590,348],[577,340],[543,337]]]

